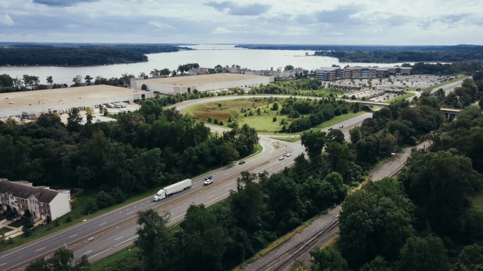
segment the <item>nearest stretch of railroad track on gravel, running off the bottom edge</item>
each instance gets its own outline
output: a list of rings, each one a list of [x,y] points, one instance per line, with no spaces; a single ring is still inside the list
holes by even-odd
[[[294,261],[298,256],[300,256],[303,252],[307,251],[315,242],[320,239],[322,236],[326,235],[329,231],[339,225],[339,219],[332,222],[329,226],[325,227],[323,230],[311,235],[310,237],[306,238],[305,240],[301,241],[300,243],[296,244],[289,250],[285,251],[280,256],[276,257],[275,259],[267,262],[262,267],[258,268],[256,271],[281,271],[287,265],[289,265],[292,261]]]

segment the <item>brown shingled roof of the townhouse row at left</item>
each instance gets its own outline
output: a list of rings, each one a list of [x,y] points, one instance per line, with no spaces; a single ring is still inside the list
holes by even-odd
[[[50,203],[59,192],[44,187],[32,187],[28,182],[15,183],[0,179],[0,193],[8,193],[22,199],[28,199],[33,195],[40,202]]]

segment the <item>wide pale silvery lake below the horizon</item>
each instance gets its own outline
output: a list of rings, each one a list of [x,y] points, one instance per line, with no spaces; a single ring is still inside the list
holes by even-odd
[[[149,72],[153,69],[170,70],[178,68],[178,65],[187,63],[198,63],[201,67],[213,68],[216,65],[231,66],[240,65],[252,70],[274,69],[293,65],[307,70],[315,70],[320,67],[330,67],[332,64],[344,67],[347,63],[340,63],[337,58],[321,56],[305,56],[305,53],[313,55],[314,51],[287,51],[287,50],[249,50],[234,48],[234,45],[196,45],[191,48],[193,51],[181,51],[173,53],[148,54],[148,62],[133,64],[116,64],[107,66],[88,66],[88,67],[49,67],[49,66],[29,66],[29,67],[0,67],[0,74],[9,74],[13,78],[22,75],[39,76],[41,83],[45,84],[47,76],[52,76],[55,83],[73,84],[72,78],[79,74],[85,77],[90,75],[96,77],[101,75],[106,78],[120,77],[122,73],[139,75],[140,72]],[[351,65],[361,66],[394,66],[401,63],[351,63]]]

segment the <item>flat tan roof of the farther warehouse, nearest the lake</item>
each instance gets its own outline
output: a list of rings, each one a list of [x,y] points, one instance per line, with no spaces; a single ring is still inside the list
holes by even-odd
[[[154,79],[137,80],[142,83],[156,83],[162,85],[204,85],[221,82],[241,81],[248,79],[267,78],[267,76],[239,74],[239,73],[214,73],[203,75],[189,75],[189,76],[176,76],[176,77],[164,77]]]

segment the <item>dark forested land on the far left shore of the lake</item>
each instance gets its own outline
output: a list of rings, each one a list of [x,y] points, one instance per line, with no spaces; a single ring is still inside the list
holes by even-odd
[[[88,66],[147,61],[145,54],[177,52],[190,48],[172,45],[81,45],[57,46],[14,44],[0,47],[0,66]]]

